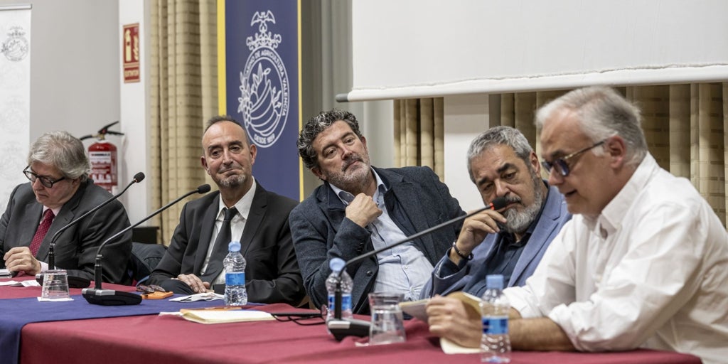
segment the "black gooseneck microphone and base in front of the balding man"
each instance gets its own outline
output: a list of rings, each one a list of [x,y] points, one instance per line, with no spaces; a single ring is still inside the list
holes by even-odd
[[[95,277],[94,277],[94,288],[84,288],[81,291],[82,296],[86,298],[86,301],[88,301],[90,304],[100,304],[103,306],[122,306],[122,305],[131,305],[131,304],[141,304],[141,296],[135,293],[130,292],[123,292],[121,290],[105,290],[101,288],[101,258],[103,256],[101,255],[101,249],[103,249],[104,246],[108,242],[111,242],[112,240],[116,239],[117,237],[121,236],[125,232],[128,232],[131,229],[134,229],[135,227],[139,226],[139,224],[143,223],[144,221],[149,220],[150,218],[153,218],[157,214],[161,213],[164,210],[167,210],[172,205],[175,205],[175,203],[180,202],[185,197],[188,197],[191,194],[206,194],[210,191],[210,185],[209,184],[203,184],[202,186],[197,187],[197,189],[193,189],[192,191],[187,192],[186,194],[183,194],[182,196],[175,199],[173,202],[168,203],[167,205],[162,206],[159,208],[159,210],[154,211],[154,213],[151,213],[151,215],[147,216],[146,218],[141,219],[141,221],[138,221],[132,226],[128,226],[125,229],[122,229],[121,232],[117,232],[116,234],[109,237],[107,240],[101,243],[101,245],[98,246],[98,250],[96,250],[96,265],[95,265]]]

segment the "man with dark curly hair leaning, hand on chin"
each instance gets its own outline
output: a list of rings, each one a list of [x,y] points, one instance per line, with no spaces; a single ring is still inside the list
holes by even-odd
[[[326,306],[329,261],[348,261],[416,232],[464,215],[448,187],[429,167],[376,168],[356,117],[334,109],[304,125],[298,154],[324,181],[289,216],[304,286],[317,307]],[[367,294],[419,298],[432,266],[450,248],[462,223],[347,266],[354,281],[352,311],[368,313]]]

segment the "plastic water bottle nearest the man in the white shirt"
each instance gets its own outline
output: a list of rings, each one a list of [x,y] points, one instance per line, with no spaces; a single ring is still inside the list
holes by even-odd
[[[503,296],[503,276],[486,277],[486,293],[480,301],[483,315],[483,336],[480,339],[481,363],[510,363],[510,337],[508,336],[508,312],[510,304]]]

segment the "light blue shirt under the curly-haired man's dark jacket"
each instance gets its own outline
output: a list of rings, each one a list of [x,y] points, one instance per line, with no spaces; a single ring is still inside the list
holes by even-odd
[[[377,189],[372,197],[379,210],[382,211],[376,220],[366,226],[371,232],[371,241],[374,249],[381,249],[393,242],[405,240],[407,237],[397,226],[395,221],[389,217],[387,206],[384,205],[384,194],[387,186],[381,181],[379,175],[372,170],[376,178]],[[349,205],[354,195],[339,189],[330,184],[331,189],[339,196],[344,205]],[[376,255],[379,263],[379,274],[376,275],[376,282],[372,292],[397,292],[403,293],[405,301],[412,301],[419,298],[419,293],[430,280],[432,264],[416,248],[414,242],[406,242],[395,248],[384,250]]]

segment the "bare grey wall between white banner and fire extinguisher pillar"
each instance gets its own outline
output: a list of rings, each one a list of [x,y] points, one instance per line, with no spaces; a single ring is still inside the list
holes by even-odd
[[[81,137],[119,120],[118,1],[0,0],[14,4],[32,7],[30,133],[21,143],[50,130]]]

